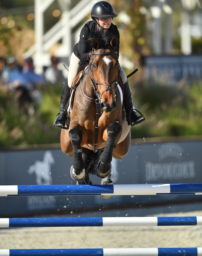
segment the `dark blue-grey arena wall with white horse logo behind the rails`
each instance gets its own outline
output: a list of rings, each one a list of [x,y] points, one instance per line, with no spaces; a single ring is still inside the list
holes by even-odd
[[[75,184],[69,174],[72,158],[60,148],[0,152],[0,184]],[[143,142],[131,144],[121,160],[113,159],[114,184],[202,183],[202,140]],[[93,184],[100,179],[92,176]],[[165,200],[166,199],[166,200]],[[0,197],[0,217],[39,214],[71,214],[140,205],[201,201],[202,196],[9,196]]]

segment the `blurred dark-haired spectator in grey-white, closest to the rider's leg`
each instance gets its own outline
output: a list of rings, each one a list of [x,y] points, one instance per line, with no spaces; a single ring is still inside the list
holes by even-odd
[[[65,78],[62,71],[58,69],[58,58],[52,56],[50,60],[51,66],[44,73],[46,81],[51,84],[63,83]]]

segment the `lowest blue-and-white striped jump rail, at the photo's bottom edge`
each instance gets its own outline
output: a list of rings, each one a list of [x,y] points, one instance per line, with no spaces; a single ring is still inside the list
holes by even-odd
[[[202,248],[8,249],[0,256],[202,256]]]

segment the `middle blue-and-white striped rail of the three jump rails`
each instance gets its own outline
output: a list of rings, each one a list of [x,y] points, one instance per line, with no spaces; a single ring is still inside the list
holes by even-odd
[[[44,226],[194,226],[196,217],[0,218],[0,228]],[[1,254],[0,254],[1,255]]]

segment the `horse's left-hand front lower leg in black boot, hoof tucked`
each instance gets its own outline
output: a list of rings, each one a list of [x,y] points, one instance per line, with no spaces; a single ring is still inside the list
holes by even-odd
[[[78,126],[69,131],[69,139],[73,147],[73,165],[70,168],[70,174],[73,180],[83,180],[85,177],[84,161],[82,159],[82,131]]]

